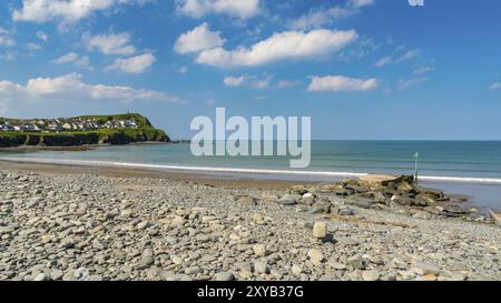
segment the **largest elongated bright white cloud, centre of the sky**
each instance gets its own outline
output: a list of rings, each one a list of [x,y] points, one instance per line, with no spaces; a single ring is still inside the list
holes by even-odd
[[[282,60],[313,58],[328,54],[356,40],[354,30],[285,31],[275,33],[249,48],[225,50],[215,48],[203,51],[197,63],[219,68],[256,67]]]

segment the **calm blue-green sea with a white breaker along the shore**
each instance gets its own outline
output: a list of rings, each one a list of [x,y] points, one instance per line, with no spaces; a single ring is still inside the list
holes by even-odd
[[[501,210],[501,141],[312,141],[311,165],[291,156],[195,156],[190,144],[131,144],[88,151],[2,151],[0,160],[200,172],[215,176],[330,182],[367,173],[414,174],[421,185]]]

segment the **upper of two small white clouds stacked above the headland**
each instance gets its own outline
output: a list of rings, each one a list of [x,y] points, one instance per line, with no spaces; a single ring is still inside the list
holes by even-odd
[[[108,33],[90,36],[86,32],[82,36],[84,44],[88,50],[99,50],[104,54],[131,54],[136,52],[136,48],[130,44],[131,37],[128,32]]]

